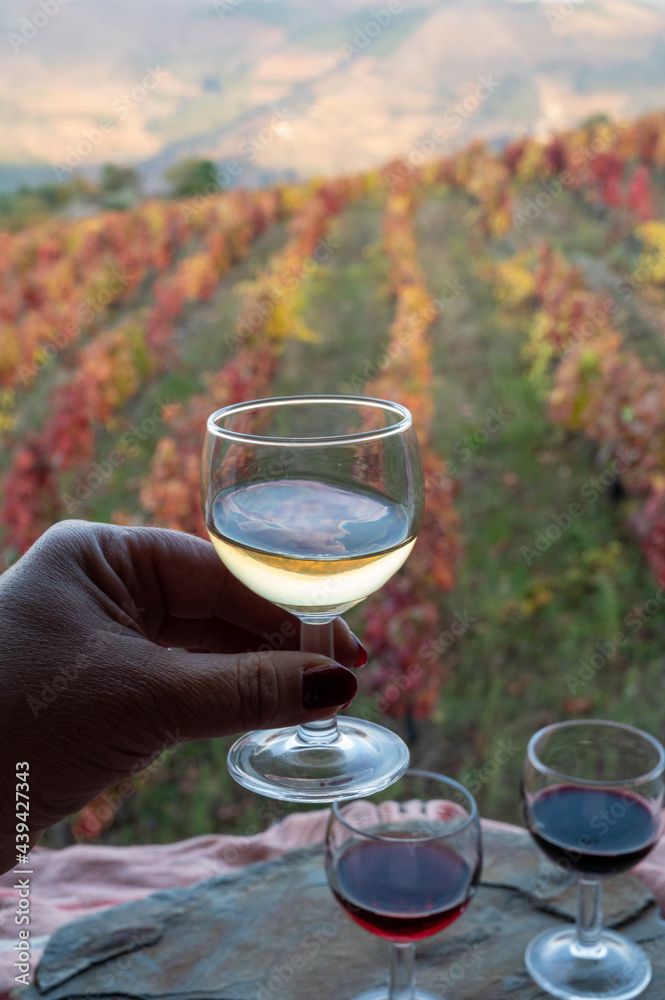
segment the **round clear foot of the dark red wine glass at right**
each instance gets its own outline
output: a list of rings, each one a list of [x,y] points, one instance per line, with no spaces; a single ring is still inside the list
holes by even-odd
[[[580,948],[574,927],[544,931],[524,955],[532,979],[559,1000],[631,1000],[651,979],[648,956],[633,941],[603,930],[594,948]]]

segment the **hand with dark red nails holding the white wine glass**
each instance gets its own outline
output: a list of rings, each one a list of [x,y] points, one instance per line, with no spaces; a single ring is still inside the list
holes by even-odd
[[[64,521],[0,577],[0,871],[14,864],[14,769],[30,765],[31,838],[186,740],[325,718],[364,651],[298,652],[299,623],[208,542]],[[179,648],[167,648],[179,647]],[[193,652],[195,650],[195,652]]]

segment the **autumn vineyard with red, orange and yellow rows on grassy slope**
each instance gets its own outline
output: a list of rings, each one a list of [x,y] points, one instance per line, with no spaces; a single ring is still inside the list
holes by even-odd
[[[0,556],[65,517],[205,537],[227,403],[404,403],[426,516],[348,616],[353,711],[510,820],[539,725],[665,735],[665,114],[416,159],[0,239]],[[54,836],[247,830],[226,749],[166,753]]]

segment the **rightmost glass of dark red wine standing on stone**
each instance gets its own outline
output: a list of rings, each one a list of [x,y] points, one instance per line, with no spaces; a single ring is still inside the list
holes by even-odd
[[[629,1000],[651,979],[646,953],[602,927],[601,879],[646,857],[662,826],[665,751],[632,726],[560,722],[531,737],[522,773],[527,828],[579,881],[574,927],[544,931],[526,949],[532,978],[561,1000]]]

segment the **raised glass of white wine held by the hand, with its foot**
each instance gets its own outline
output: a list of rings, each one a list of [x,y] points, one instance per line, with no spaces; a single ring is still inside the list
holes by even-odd
[[[411,551],[424,507],[411,415],[386,400],[293,396],[207,422],[202,502],[229,570],[302,622],[301,648],[334,658],[332,622]],[[359,719],[250,733],[229,754],[245,787],[324,802],[374,791],[408,766],[395,734]]]

